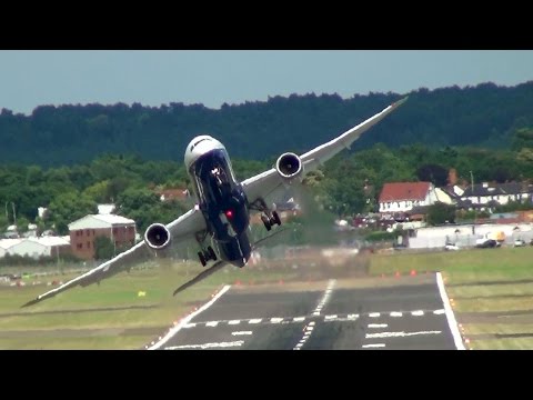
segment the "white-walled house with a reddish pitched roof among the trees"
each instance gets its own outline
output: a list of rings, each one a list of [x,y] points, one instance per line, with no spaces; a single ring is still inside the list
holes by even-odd
[[[406,212],[413,207],[431,206],[436,201],[440,200],[431,182],[385,183],[379,200],[381,213]]]

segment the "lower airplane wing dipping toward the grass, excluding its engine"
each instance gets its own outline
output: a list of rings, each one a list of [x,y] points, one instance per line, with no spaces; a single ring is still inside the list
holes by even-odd
[[[192,243],[194,236],[198,232],[205,230],[205,220],[200,210],[195,208],[191,209],[180,218],[170,222],[167,228],[172,234],[171,250],[177,251],[180,247]],[[105,261],[101,266],[52,289],[43,294],[38,296],[36,299],[27,302],[22,307],[36,304],[42,300],[54,297],[56,294],[74,288],[77,286],[87,287],[92,283],[99,283],[102,279],[110,278],[124,270],[130,270],[132,267],[147,261],[153,257],[153,252],[145,244],[144,241],[140,241],[131,249],[115,256],[109,261]]]

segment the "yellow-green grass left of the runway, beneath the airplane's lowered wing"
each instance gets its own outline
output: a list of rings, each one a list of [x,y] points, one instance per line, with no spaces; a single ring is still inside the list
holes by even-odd
[[[227,267],[177,297],[173,290],[203,269],[197,263],[133,270],[103,280],[100,286],[77,287],[29,308],[20,307],[52,289],[33,281],[67,280],[76,274],[58,274],[24,280],[24,287],[0,288],[0,349],[130,349],[141,348],[154,334],[122,334],[107,330],[160,329],[164,333],[173,321],[204,303],[223,284],[275,282],[295,276],[291,269],[238,269]],[[145,292],[139,297],[139,291]],[[143,307],[135,309],[131,307]],[[130,309],[128,309],[130,308]],[[110,310],[101,310],[110,309]],[[74,312],[76,310],[86,310]],[[8,316],[16,313],[14,316]],[[72,331],[77,337],[72,337]],[[99,330],[95,333],[94,331]],[[24,336],[20,337],[19,332]],[[43,331],[56,331],[56,338]],[[10,334],[12,332],[12,334]],[[87,334],[87,336],[84,336]],[[78,337],[79,336],[79,337]]]

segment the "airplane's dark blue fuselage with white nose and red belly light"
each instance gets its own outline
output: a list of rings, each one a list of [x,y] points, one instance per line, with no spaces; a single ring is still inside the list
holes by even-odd
[[[184,162],[219,257],[243,267],[252,251],[250,211],[224,146],[208,136],[197,137],[187,148]]]

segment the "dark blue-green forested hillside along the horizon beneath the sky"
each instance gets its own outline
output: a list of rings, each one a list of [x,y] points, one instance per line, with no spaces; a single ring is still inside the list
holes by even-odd
[[[506,148],[513,129],[533,122],[533,81],[350,99],[278,96],[218,110],[182,103],[42,106],[29,117],[2,109],[0,160],[52,167],[88,162],[102,153],[133,153],[145,160],[182,162],[184,147],[199,133],[219,138],[233,158],[264,160],[285,150],[305,151],[405,94],[408,103],[364,134],[355,149],[376,142],[392,148],[415,142]]]

